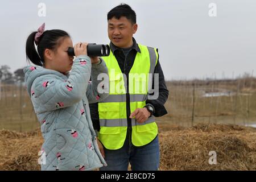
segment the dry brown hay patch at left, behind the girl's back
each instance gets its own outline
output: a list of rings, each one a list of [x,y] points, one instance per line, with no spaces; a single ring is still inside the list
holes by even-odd
[[[30,133],[0,131],[0,170],[40,170],[38,152],[42,144],[39,129]]]

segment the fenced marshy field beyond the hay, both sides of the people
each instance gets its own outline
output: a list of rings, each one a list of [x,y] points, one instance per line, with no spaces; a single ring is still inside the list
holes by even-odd
[[[39,127],[24,83],[0,85],[0,129],[30,131]],[[256,123],[256,78],[168,81],[167,87],[168,114],[157,121],[180,126]]]

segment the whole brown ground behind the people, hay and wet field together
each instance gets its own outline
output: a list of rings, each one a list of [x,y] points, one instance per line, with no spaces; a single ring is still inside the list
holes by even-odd
[[[256,79],[167,82],[160,170],[256,170]],[[1,85],[0,170],[38,170],[43,143],[24,86]],[[209,164],[209,152],[217,164]]]

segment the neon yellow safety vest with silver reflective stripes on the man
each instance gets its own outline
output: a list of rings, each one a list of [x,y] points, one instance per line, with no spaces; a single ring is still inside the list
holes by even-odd
[[[146,105],[148,90],[152,82],[148,82],[148,73],[154,74],[158,53],[155,48],[139,45],[141,53],[137,52],[133,67],[129,72],[130,112]],[[126,114],[126,80],[119,68],[117,59],[112,52],[102,57],[109,70],[109,97],[98,103],[100,118],[99,139],[109,150],[123,146],[127,132]],[[150,117],[144,123],[131,119],[131,142],[135,146],[150,143],[158,134],[155,118]]]

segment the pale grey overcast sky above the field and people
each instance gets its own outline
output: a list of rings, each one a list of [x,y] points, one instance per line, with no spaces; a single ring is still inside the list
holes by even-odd
[[[256,75],[255,0],[3,1],[0,65],[26,66],[27,36],[44,22],[46,30],[69,32],[74,44],[108,44],[106,15],[121,2],[137,13],[137,42],[159,49],[166,80]],[[38,15],[39,3],[46,16]]]

